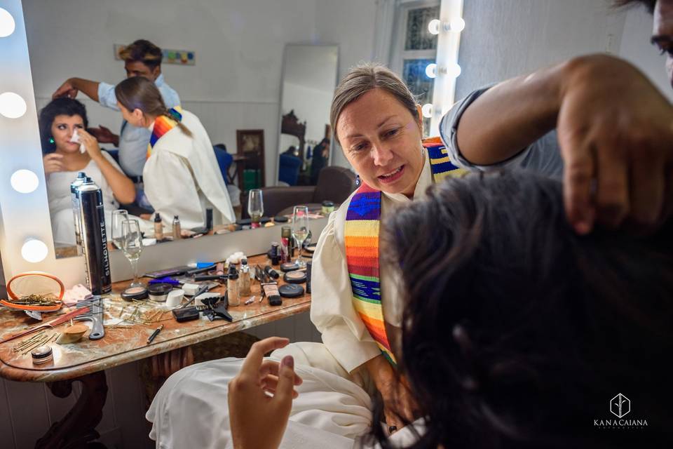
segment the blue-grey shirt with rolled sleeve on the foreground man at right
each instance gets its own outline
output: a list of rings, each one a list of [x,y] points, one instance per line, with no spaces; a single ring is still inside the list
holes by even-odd
[[[492,86],[473,91],[463,100],[456,102],[453,107],[444,114],[440,121],[440,137],[447,147],[449,159],[454,165],[472,170],[491,170],[497,168],[523,168],[532,170],[538,175],[560,178],[563,175],[563,159],[559,149],[556,130],[551,130],[541,138],[531,143],[528,147],[522,149],[519,153],[505,161],[494,163],[489,166],[479,166],[471,163],[461,153],[458,148],[458,123],[461,121],[463,112],[468,108],[482,93],[486,92]]]

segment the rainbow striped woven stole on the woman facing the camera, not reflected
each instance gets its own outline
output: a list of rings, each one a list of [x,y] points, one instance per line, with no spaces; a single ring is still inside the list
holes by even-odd
[[[467,170],[449,161],[440,138],[423,140],[430,158],[433,181],[456,177]],[[381,282],[379,280],[379,229],[381,225],[381,192],[362,184],[348,204],[346,212],[346,264],[351,279],[353,307],[390,363],[395,356],[390,348],[386,323],[383,321]]]

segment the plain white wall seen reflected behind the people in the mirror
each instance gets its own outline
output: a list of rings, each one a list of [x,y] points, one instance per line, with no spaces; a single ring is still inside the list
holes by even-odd
[[[196,51],[196,66],[163,65],[185,109],[213,143],[236,152],[237,129],[264,129],[266,182],[276,179],[285,43],[339,45],[343,74],[372,57],[374,0],[25,0],[39,106],[70,76],[116,83],[113,44],[149,39]],[[90,121],[117,129],[116,112],[86,102]]]

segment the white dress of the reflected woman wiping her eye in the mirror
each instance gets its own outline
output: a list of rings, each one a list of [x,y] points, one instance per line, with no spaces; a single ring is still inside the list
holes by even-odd
[[[120,173],[123,173],[118,163],[104,150],[101,154]],[[103,208],[105,211],[105,225],[110,228],[112,211],[119,208],[119,203],[114,199],[112,188],[107,183],[97,163],[89,161],[86,167],[77,171],[59,171],[46,175],[47,196],[49,199],[49,214],[51,216],[51,229],[54,234],[54,243],[58,246],[72,246],[75,244],[75,225],[72,215],[72,199],[70,196],[70,184],[77,177],[77,173],[83,171],[93,182],[100,187],[103,194]],[[108,231],[109,232],[109,231]]]

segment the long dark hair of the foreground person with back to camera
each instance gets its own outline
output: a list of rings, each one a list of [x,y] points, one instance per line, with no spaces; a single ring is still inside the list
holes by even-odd
[[[560,182],[516,172],[449,180],[391,214],[383,264],[403,284],[400,373],[427,420],[412,447],[670,443],[670,231],[578,236]],[[647,427],[594,425],[616,418],[620,393],[625,419]]]

